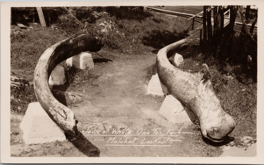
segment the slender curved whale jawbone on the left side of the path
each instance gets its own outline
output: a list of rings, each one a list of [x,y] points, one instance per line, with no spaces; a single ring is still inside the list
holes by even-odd
[[[88,23],[82,32],[49,47],[41,55],[34,72],[34,90],[42,108],[50,118],[67,134],[76,136],[77,120],[70,108],[57,101],[50,91],[48,79],[57,64],[80,52],[97,52],[103,44],[89,29]]]

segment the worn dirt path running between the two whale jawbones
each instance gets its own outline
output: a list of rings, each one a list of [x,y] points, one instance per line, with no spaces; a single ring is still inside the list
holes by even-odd
[[[84,136],[99,148],[100,156],[182,157],[218,156],[220,154],[218,147],[210,146],[202,140],[199,131],[194,129],[193,123],[175,125],[158,112],[165,97],[147,94],[150,80],[148,72],[155,62],[154,54],[135,56],[106,50],[98,53],[112,62],[96,63],[92,72],[100,75],[97,79],[82,86],[81,89],[69,87],[67,91],[79,90],[87,96],[88,100],[74,104],[72,110],[81,122],[82,130],[80,131],[84,131]],[[89,130],[100,131],[100,136],[85,134],[87,127],[91,127]],[[113,134],[113,128],[118,129],[119,127],[122,130],[131,130],[131,135],[137,136]],[[108,129],[110,131],[107,134],[102,133]],[[155,136],[153,129],[157,129],[157,132],[161,132],[162,135],[170,129],[176,133],[180,131],[192,134]],[[141,134],[150,132],[153,136],[138,135],[140,132]],[[131,144],[126,143],[130,140]],[[154,146],[162,142],[165,146]],[[148,143],[152,144],[143,146]],[[116,146],[124,144],[133,146]]]

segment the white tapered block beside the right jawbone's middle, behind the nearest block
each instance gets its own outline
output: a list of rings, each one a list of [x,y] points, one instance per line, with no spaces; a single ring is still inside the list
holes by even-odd
[[[148,83],[148,94],[164,96],[158,74],[155,74],[151,77]]]

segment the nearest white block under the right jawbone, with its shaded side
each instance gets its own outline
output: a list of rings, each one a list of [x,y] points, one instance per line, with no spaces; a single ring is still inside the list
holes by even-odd
[[[180,101],[172,95],[167,95],[160,107],[160,113],[172,123],[197,120],[196,115],[189,109],[184,110]]]

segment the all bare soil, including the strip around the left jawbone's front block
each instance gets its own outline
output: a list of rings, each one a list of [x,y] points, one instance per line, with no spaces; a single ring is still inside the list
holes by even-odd
[[[91,72],[98,78],[66,89],[66,92],[82,97],[82,101],[75,103],[66,101],[79,121],[81,135],[77,140],[26,145],[19,129],[23,115],[11,114],[11,156],[218,157],[222,153],[220,146],[223,144],[212,144],[203,139],[194,123],[173,124],[159,113],[165,97],[147,94],[155,54],[132,55],[101,50],[92,56],[95,67]],[[85,133],[87,127],[100,131],[102,136]],[[131,134],[108,136],[122,135],[113,134],[113,128],[130,130]],[[103,134],[108,129],[110,133]],[[161,135],[170,130],[179,136],[156,136],[154,129]],[[155,136],[142,135],[143,132]],[[130,143],[133,146],[116,146],[135,138]]]

